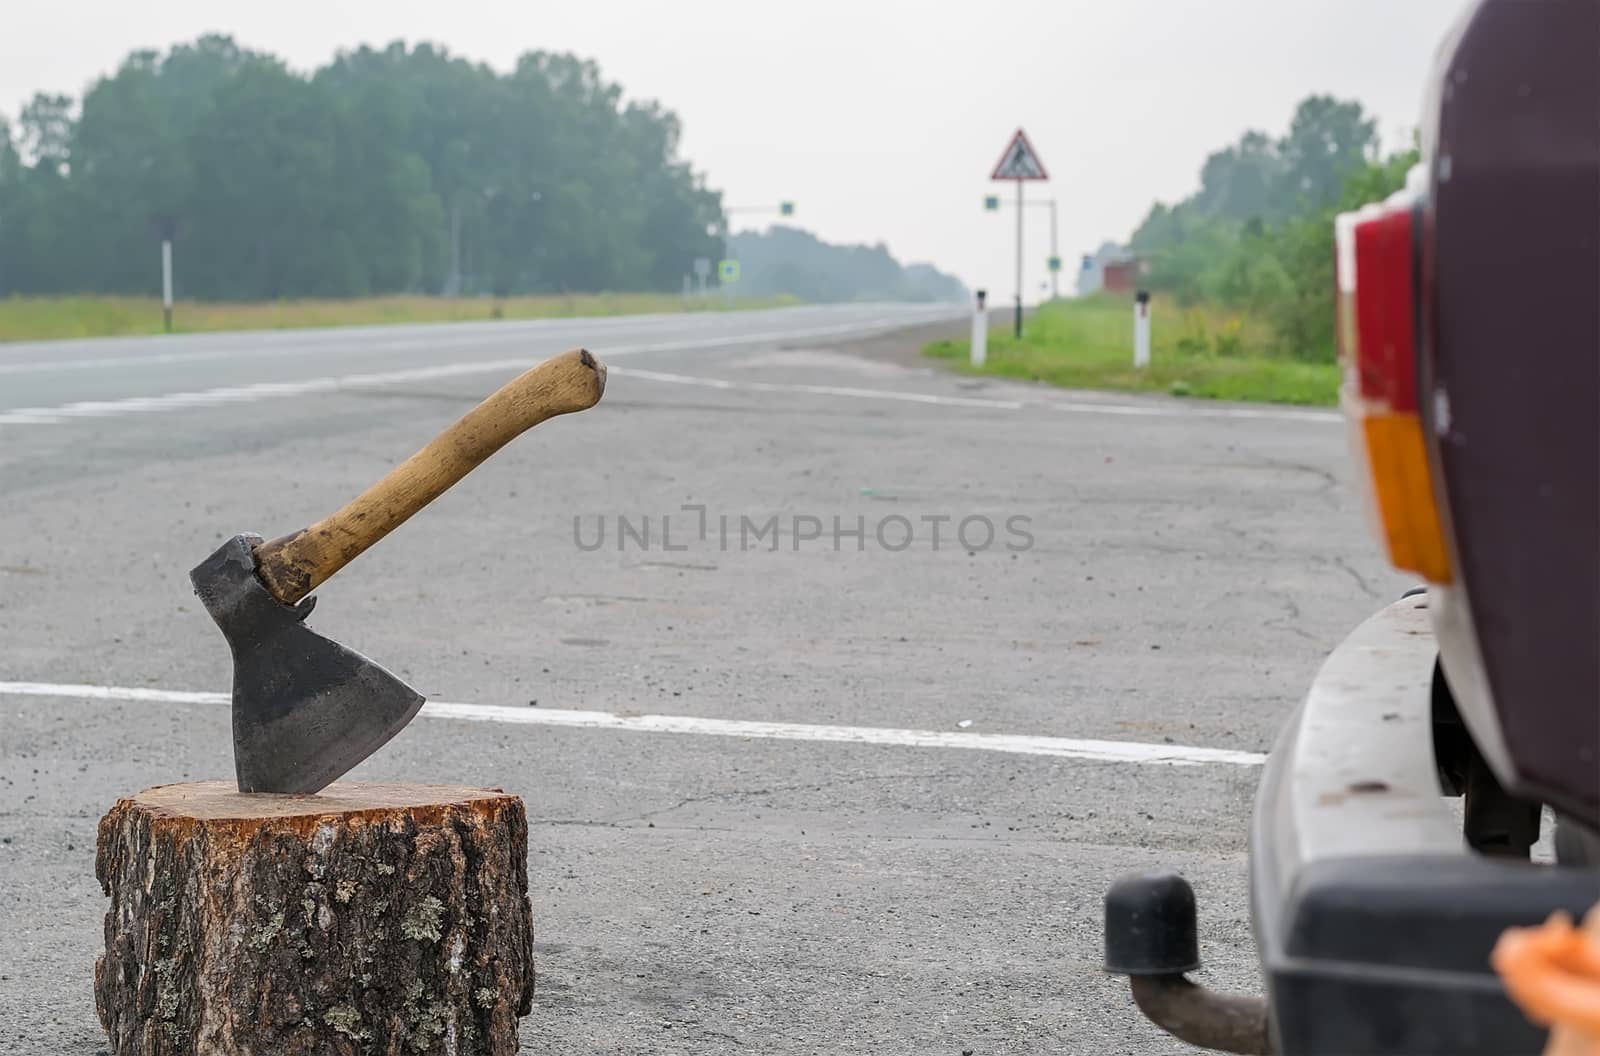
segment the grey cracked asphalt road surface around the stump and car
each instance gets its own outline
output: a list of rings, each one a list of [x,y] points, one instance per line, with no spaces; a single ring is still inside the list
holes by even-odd
[[[915,357],[939,318],[0,346],[0,1051],[101,1051],[96,821],[232,771],[226,707],[176,693],[230,678],[189,568],[328,514],[574,344],[616,368],[603,403],[498,454],[312,621],[432,699],[541,715],[422,717],[352,774],[526,800],[525,1051],[1184,1051],[1101,974],[1101,894],[1181,867],[1202,978],[1258,986],[1256,762],[1406,581],[1331,414],[942,374]]]

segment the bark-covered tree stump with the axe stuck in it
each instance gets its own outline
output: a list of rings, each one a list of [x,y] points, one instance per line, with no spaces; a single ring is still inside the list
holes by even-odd
[[[533,1005],[528,819],[499,790],[168,784],[99,824],[114,1056],[502,1056]]]

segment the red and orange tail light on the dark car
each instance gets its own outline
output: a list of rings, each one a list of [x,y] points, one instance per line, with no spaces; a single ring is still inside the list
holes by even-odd
[[[1382,205],[1334,221],[1341,402],[1389,560],[1451,581],[1418,411],[1422,170]]]

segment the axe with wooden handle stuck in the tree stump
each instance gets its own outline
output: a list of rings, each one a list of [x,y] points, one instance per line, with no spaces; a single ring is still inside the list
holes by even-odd
[[[306,626],[310,592],[512,438],[602,392],[605,363],[587,350],[546,360],[331,517],[270,542],[234,536],[189,573],[234,651],[240,792],[318,792],[422,707],[421,693]]]

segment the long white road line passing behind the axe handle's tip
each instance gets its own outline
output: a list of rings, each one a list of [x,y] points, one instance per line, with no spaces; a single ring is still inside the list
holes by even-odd
[[[698,338],[688,341],[658,341],[650,344],[595,347],[602,358],[618,355],[638,355],[642,352],[682,352],[701,349],[722,349],[744,344],[765,344],[770,341],[800,341],[810,338],[832,336],[842,333],[867,333],[898,325],[902,320],[875,318],[856,323],[838,323],[832,326],[816,326],[811,330],[774,330],[754,334],[733,334],[726,338]],[[496,371],[522,370],[533,365],[530,357],[474,360],[467,363],[443,363],[438,366],[416,366],[410,370],[374,371],[363,374],[339,374],[333,378],[304,378],[299,381],[262,381],[246,386],[222,386],[218,389],[198,389],[194,392],[168,392],[149,397],[122,397],[115,400],[78,400],[58,406],[21,406],[0,411],[0,426],[50,426],[80,418],[122,418],[126,414],[160,414],[168,411],[190,410],[197,406],[221,406],[224,403],[254,403],[283,397],[302,397],[341,389],[370,389],[379,386],[398,386],[413,381],[434,381],[438,378],[459,378],[466,374],[486,374]]]

